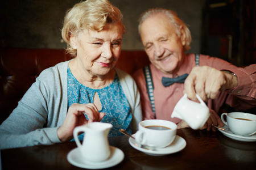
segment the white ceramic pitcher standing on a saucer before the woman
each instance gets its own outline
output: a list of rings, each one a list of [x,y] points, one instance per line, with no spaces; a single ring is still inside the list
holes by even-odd
[[[90,162],[102,162],[109,158],[108,134],[112,127],[112,124],[92,122],[74,129],[74,139],[84,159]],[[82,145],[78,138],[81,131],[85,133]]]

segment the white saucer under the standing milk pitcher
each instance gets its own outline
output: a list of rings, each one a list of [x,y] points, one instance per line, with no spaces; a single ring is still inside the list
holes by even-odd
[[[110,146],[110,151],[111,151],[111,155],[109,159],[100,163],[93,163],[83,159],[80,154],[79,148],[75,148],[72,151],[70,151],[68,153],[67,159],[69,163],[80,168],[88,168],[88,169],[109,168],[120,163],[125,157],[125,154],[123,154],[123,151],[117,147]]]

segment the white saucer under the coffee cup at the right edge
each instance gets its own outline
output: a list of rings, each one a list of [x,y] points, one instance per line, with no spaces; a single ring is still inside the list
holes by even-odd
[[[232,138],[237,141],[245,141],[245,142],[255,142],[256,141],[256,134],[251,135],[250,137],[244,137],[244,136],[241,136],[238,134],[234,134],[232,131],[230,131],[229,127],[226,125],[224,125],[223,127],[216,126],[216,128],[218,130],[220,130],[220,132],[222,134],[224,134],[226,137]],[[222,130],[221,128],[224,130]]]

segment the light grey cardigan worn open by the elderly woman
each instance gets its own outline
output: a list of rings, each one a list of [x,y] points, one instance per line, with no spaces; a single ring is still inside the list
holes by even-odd
[[[67,115],[68,62],[50,67],[36,78],[13,113],[0,126],[0,149],[59,143],[57,128]],[[133,78],[115,68],[129,102],[133,133],[142,120],[140,95]]]

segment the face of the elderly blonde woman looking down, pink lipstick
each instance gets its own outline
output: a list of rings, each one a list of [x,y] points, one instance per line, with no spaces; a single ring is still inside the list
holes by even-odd
[[[101,31],[84,30],[71,36],[71,44],[77,50],[77,69],[93,76],[108,74],[115,66],[121,52],[122,27],[106,24]]]

